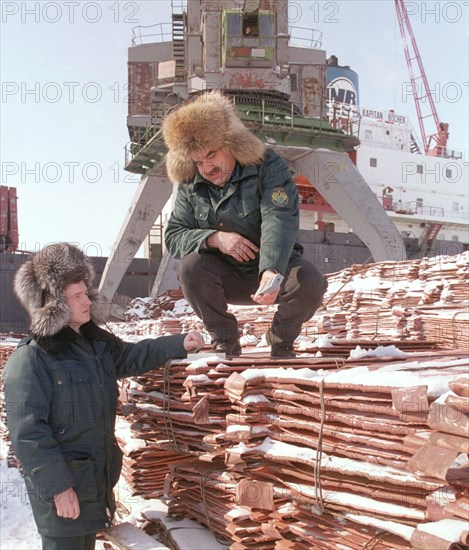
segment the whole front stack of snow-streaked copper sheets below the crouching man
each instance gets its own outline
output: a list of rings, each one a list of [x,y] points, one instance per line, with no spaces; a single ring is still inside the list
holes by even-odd
[[[205,359],[139,377],[139,437],[186,455],[166,481],[170,514],[233,549],[362,548],[383,530],[391,548],[463,543],[469,357],[405,355],[339,370]]]

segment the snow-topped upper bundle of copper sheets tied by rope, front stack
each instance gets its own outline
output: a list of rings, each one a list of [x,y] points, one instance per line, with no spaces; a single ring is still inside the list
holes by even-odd
[[[427,536],[422,544],[420,528],[429,519],[434,523],[456,516],[452,521],[464,537],[467,524],[445,509],[443,498],[448,501],[451,495],[454,504],[467,491],[467,455],[433,446],[415,457],[406,437],[431,429],[435,413],[429,401],[467,372],[468,357],[412,359],[326,375],[290,369],[232,375],[225,390],[239,411],[237,418],[227,419],[228,424],[237,422],[227,431],[232,438],[238,432],[239,443],[226,449],[227,465],[250,472],[251,479],[271,484],[272,493],[295,503],[308,502],[358,524],[406,534],[403,538],[417,548],[445,547],[447,533],[433,541],[437,546]],[[256,397],[261,410],[256,410]],[[445,429],[448,411],[440,412]],[[467,417],[458,416],[457,426],[455,417],[449,421],[452,433],[467,437]],[[261,443],[248,437],[246,426],[251,428],[253,419],[268,426],[270,433]],[[438,475],[433,468],[441,454],[446,469]],[[247,491],[256,508],[256,492],[249,485]],[[433,502],[439,508],[429,515]]]

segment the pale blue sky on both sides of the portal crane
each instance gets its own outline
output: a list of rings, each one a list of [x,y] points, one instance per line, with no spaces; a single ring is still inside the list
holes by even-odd
[[[290,24],[323,33],[327,57],[360,79],[360,105],[395,109],[417,128],[392,0],[290,2]],[[468,147],[467,1],[406,2],[449,147]],[[18,191],[20,247],[74,242],[107,256],[139,177],[128,142],[132,29],[170,21],[169,0],[1,2],[2,185]]]

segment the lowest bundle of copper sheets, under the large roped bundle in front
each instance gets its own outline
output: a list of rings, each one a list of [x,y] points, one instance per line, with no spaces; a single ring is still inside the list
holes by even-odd
[[[287,499],[271,483],[226,471],[220,461],[193,458],[175,465],[166,492],[171,516],[197,519],[220,542],[231,542],[231,550],[359,550],[371,543],[374,548],[410,548],[379,527]]]

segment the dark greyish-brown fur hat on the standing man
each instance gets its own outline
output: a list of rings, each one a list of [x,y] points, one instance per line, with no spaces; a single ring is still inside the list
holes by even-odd
[[[25,262],[16,272],[14,288],[31,317],[31,332],[38,337],[53,336],[70,320],[64,289],[83,281],[91,300],[91,319],[102,323],[109,307],[106,299],[92,288],[94,269],[81,250],[68,243],[51,244]]]

